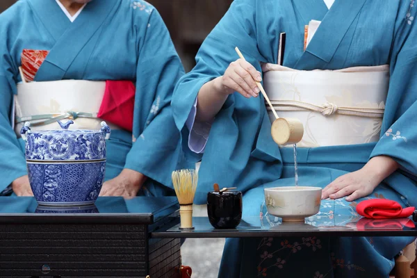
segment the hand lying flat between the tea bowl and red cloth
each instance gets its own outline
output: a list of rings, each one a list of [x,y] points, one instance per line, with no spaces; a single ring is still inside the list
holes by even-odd
[[[361,170],[344,174],[335,179],[332,183],[322,190],[322,199],[338,199],[346,197],[346,201],[351,202],[361,197],[366,197],[373,193],[373,190],[386,177],[395,172],[399,167],[398,163],[388,156],[376,156]]]

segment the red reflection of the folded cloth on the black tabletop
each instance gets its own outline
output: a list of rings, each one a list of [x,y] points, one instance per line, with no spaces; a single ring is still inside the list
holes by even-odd
[[[357,222],[357,229],[359,231],[372,230],[372,229],[402,230],[403,227],[415,228],[416,225],[409,218],[398,218],[398,219],[361,218]]]

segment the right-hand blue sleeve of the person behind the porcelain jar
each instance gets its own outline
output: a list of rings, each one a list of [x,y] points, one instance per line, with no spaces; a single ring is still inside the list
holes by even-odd
[[[170,103],[174,86],[184,70],[170,33],[155,9],[148,20],[136,74],[133,118],[136,142],[124,167],[172,188],[171,172],[177,170],[182,148]]]

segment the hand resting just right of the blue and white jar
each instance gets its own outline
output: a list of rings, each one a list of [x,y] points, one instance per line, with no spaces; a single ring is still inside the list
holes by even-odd
[[[117,177],[103,184],[100,196],[134,197],[145,180],[146,177],[140,172],[124,169]]]

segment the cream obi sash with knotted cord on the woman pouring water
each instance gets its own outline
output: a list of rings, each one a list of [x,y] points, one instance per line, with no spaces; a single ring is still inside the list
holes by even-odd
[[[268,63],[262,69],[265,91],[278,116],[298,118],[304,125],[298,146],[379,140],[389,89],[389,65],[301,71]],[[267,109],[270,120],[275,120],[268,105]]]

